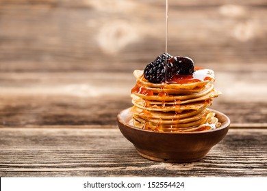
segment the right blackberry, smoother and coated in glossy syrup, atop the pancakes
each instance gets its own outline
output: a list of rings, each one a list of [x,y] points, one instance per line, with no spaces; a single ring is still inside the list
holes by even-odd
[[[189,57],[175,57],[176,74],[190,75],[194,72],[194,61]]]

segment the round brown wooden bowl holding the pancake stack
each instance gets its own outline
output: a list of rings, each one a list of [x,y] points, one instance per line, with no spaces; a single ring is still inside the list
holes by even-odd
[[[213,110],[222,123],[216,130],[202,132],[153,132],[129,124],[129,108],[118,114],[118,128],[136,147],[140,156],[160,162],[193,162],[205,158],[210,149],[227,134],[230,119]]]

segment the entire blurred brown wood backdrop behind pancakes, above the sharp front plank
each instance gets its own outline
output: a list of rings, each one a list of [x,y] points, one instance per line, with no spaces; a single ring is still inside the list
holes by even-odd
[[[266,0],[169,0],[168,53],[215,71],[233,123],[266,122],[266,50]],[[1,126],[115,126],[164,51],[164,0],[0,0]]]

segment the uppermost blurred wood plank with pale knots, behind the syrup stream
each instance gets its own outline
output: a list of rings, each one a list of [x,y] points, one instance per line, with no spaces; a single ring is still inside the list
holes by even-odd
[[[164,52],[164,1],[34,2],[1,1],[2,72],[130,71]],[[173,1],[169,53],[201,65],[266,63],[266,2],[229,2]]]

